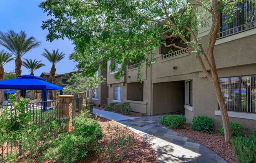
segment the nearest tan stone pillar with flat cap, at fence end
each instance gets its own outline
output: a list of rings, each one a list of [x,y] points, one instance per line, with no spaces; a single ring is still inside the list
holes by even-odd
[[[58,100],[63,100],[62,108],[60,108],[62,117],[69,117],[69,123],[66,127],[67,131],[72,129],[73,121],[73,95],[59,95],[57,96]]]

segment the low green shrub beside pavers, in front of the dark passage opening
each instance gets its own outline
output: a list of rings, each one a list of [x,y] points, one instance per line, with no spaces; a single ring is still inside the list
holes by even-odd
[[[182,129],[186,118],[183,115],[164,115],[160,121],[163,125],[169,126],[172,129]]]

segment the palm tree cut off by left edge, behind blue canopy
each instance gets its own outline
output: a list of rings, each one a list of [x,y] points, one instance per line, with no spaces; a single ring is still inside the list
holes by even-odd
[[[4,50],[0,51],[0,80],[4,80],[4,65],[14,60],[10,53]],[[4,90],[0,90],[0,101],[4,101]]]

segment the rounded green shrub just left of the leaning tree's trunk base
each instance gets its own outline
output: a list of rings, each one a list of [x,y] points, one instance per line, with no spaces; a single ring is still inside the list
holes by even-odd
[[[207,116],[196,116],[190,126],[192,130],[206,132],[208,134],[213,133],[214,123],[213,120]]]

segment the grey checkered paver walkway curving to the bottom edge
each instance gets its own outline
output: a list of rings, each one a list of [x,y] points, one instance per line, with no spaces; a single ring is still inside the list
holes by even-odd
[[[102,116],[114,120],[101,110]],[[120,114],[119,114],[120,115]],[[127,117],[127,116],[126,116]],[[147,116],[117,121],[142,136],[157,154],[158,163],[227,163],[212,150],[173,130],[159,125],[161,116]]]

